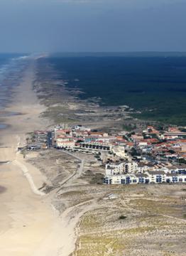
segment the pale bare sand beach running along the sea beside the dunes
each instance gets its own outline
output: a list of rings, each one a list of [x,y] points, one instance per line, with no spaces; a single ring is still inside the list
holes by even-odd
[[[50,204],[50,196],[38,191],[45,181],[38,169],[28,164],[17,146],[25,144],[26,133],[47,127],[48,121],[39,117],[44,107],[32,90],[34,63],[23,74],[23,80],[15,88],[14,100],[6,108],[21,113],[6,117],[7,129],[1,129],[0,165],[1,211],[0,252],[3,256],[67,256],[74,243],[74,226],[62,228],[58,212]],[[25,174],[25,175],[23,175]],[[30,181],[29,181],[30,179]]]

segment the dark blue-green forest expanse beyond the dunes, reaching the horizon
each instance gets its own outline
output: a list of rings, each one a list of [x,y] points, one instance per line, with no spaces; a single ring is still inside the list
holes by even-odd
[[[186,125],[185,56],[50,56],[45,60],[81,90],[82,100],[100,105],[128,105],[136,117]]]

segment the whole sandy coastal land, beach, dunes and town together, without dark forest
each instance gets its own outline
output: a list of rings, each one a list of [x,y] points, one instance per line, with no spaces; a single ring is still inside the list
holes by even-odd
[[[185,256],[185,124],[83,102],[28,64],[1,119],[3,254]]]

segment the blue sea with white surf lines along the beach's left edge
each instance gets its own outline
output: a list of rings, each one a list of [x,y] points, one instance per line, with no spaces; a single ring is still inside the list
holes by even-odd
[[[7,113],[4,109],[13,97],[12,88],[17,85],[18,74],[24,67],[24,59],[27,55],[23,54],[0,54],[0,129],[6,128],[6,124],[1,122]]]

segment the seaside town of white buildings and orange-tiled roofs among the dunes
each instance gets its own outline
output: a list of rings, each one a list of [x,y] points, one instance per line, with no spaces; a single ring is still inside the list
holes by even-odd
[[[92,154],[103,184],[186,183],[186,132],[147,126],[142,132],[99,132],[82,125],[58,124],[28,134],[27,151],[56,149]],[[21,148],[23,150],[23,148]]]

